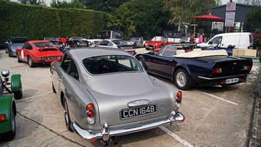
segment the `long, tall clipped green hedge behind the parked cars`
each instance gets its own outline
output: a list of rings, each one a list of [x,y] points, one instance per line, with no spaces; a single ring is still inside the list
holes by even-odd
[[[72,37],[97,35],[106,25],[105,12],[56,9],[0,1],[0,46],[9,37]]]

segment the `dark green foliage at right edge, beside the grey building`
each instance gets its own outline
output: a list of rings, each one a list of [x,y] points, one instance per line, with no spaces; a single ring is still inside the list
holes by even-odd
[[[256,28],[261,29],[261,7],[254,7],[244,19],[245,32],[254,32]]]

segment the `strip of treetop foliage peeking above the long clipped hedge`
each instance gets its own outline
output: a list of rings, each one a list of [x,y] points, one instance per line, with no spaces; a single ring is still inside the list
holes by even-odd
[[[59,0],[52,0],[51,3],[50,3],[50,6],[52,8],[79,8],[79,9],[85,9],[85,6],[79,0],[72,0],[70,2],[59,1]]]

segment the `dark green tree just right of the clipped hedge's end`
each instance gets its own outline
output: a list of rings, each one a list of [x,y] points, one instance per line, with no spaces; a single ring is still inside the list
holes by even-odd
[[[163,9],[161,0],[132,0],[109,14],[107,28],[121,30],[125,39],[140,35],[146,38],[163,35],[168,19],[169,13]]]

